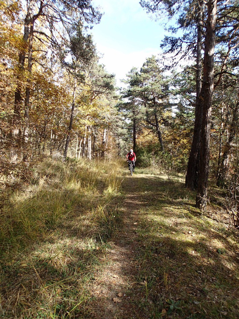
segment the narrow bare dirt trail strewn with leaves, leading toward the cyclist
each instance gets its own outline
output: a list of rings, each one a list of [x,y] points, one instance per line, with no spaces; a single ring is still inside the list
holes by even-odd
[[[136,175],[135,175],[136,177]],[[95,318],[136,318],[135,310],[129,295],[134,294],[135,276],[134,253],[137,242],[137,222],[141,208],[137,178],[125,176],[123,191],[126,193],[120,210],[123,213],[123,225],[117,232],[112,249],[107,255],[108,265],[96,278],[93,295],[96,297],[91,314]],[[127,294],[126,294],[127,292]],[[116,299],[116,302],[113,298]],[[136,301],[136,300],[134,300]],[[137,304],[137,302],[136,302]]]

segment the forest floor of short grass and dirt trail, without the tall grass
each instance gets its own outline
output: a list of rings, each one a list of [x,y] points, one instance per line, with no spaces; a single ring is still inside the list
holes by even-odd
[[[120,170],[117,196],[77,193],[47,237],[0,259],[2,318],[239,318],[230,216],[202,214],[180,175]]]

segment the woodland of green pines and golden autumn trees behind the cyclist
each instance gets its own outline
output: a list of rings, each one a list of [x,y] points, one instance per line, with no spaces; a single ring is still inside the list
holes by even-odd
[[[133,144],[138,165],[186,172],[202,210],[209,172],[237,197],[237,1],[141,6],[177,25],[165,55],[132,68],[116,92],[90,35],[102,15],[90,1],[1,2],[3,188],[27,180],[46,154],[91,160]]]

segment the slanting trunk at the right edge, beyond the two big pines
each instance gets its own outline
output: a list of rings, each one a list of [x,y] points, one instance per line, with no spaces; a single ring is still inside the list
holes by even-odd
[[[229,129],[229,137],[224,147],[224,152],[221,158],[221,165],[218,172],[217,186],[223,186],[227,179],[229,155],[232,150],[232,141],[238,129],[238,109],[239,109],[239,101],[237,101],[237,104],[233,110],[232,122]]]

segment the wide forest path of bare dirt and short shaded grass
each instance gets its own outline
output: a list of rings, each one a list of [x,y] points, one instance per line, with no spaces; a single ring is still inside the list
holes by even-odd
[[[91,318],[238,318],[238,234],[227,216],[202,215],[184,176],[135,171],[124,173],[122,225],[94,280]]]

